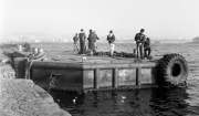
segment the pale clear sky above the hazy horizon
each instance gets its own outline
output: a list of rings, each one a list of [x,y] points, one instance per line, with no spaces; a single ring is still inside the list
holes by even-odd
[[[0,35],[45,33],[150,38],[199,36],[199,0],[0,0]]]

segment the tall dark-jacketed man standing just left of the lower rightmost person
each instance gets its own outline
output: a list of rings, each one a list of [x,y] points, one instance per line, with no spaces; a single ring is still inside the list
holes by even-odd
[[[145,30],[142,29],[140,32],[135,35],[137,57],[140,57],[140,59],[143,59],[143,42],[145,39],[144,32]]]

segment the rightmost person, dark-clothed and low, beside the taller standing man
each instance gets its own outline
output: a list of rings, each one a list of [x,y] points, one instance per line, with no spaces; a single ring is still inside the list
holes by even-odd
[[[145,38],[145,41],[144,41],[144,52],[145,52],[145,57],[149,59],[150,52],[151,52],[151,49],[150,49],[150,39],[149,38]]]

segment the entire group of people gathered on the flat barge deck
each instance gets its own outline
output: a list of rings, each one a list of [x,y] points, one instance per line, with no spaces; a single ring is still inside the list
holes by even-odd
[[[145,59],[150,56],[150,39],[147,38],[144,34],[145,30],[142,29],[139,33],[135,35],[135,41],[136,41],[136,53],[139,59]],[[83,29],[81,29],[81,32],[75,34],[73,38],[74,41],[74,51],[78,51],[78,45],[77,41],[80,40],[80,54],[84,54],[87,50],[85,43],[86,43],[86,34]],[[95,33],[94,30],[90,30],[90,34],[87,38],[88,41],[88,50],[92,51],[93,53],[96,53],[96,41],[100,40],[97,34]],[[107,35],[107,41],[109,43],[109,55],[113,56],[114,50],[115,50],[115,35],[113,31],[109,31],[109,34]],[[143,54],[144,51],[144,54]]]

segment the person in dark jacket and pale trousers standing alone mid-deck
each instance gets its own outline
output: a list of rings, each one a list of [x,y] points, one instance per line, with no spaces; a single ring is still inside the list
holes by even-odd
[[[109,34],[107,35],[107,41],[109,43],[109,55],[113,56],[114,49],[115,49],[115,35],[113,34],[113,31],[109,31]]]

